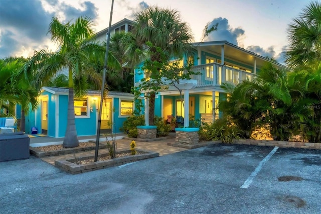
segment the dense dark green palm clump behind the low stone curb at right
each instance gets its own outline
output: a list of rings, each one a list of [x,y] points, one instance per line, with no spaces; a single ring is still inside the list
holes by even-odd
[[[220,110],[231,116],[244,137],[250,136],[255,128],[265,127],[274,140],[287,141],[301,134],[301,125],[311,115],[304,106],[313,100],[304,96],[302,81],[294,76],[289,78],[286,70],[277,69],[271,63],[253,81],[223,88],[230,96],[220,102]]]

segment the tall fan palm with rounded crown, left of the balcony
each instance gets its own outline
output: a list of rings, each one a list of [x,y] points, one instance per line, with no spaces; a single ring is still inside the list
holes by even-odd
[[[190,56],[195,49],[191,46],[193,36],[187,23],[183,22],[176,10],[149,7],[135,14],[132,31],[126,34],[122,43],[131,65],[150,60],[161,62],[157,49],[167,53],[167,58]],[[146,62],[146,61],[145,61]],[[159,78],[156,66],[150,72],[150,78]],[[149,125],[154,123],[155,92],[149,93]]]

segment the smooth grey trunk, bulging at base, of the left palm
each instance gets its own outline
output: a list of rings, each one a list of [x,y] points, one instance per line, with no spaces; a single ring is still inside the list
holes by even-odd
[[[72,148],[79,146],[75,124],[75,106],[74,106],[74,89],[69,88],[68,93],[68,114],[67,129],[63,142],[63,147]]]

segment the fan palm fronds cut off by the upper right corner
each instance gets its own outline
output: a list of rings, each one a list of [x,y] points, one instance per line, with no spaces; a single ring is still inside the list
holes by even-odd
[[[321,4],[311,2],[287,29],[286,60],[294,66],[321,59]]]

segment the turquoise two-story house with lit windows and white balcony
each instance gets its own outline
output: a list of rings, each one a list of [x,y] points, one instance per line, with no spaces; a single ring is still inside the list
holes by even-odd
[[[275,66],[284,68],[253,52],[247,51],[227,41],[212,41],[193,44],[197,48],[194,56],[193,71],[200,73],[193,75],[189,84],[182,84],[184,98],[175,87],[168,87],[158,91],[155,99],[155,116],[181,116],[184,127],[189,127],[189,120],[213,121],[219,118],[217,105],[226,93],[220,87],[224,82],[237,84],[243,80],[251,80],[260,71],[263,64],[271,62]],[[141,68],[135,69],[135,82],[144,77]],[[184,105],[183,102],[188,103]],[[146,112],[146,109],[145,109]]]

